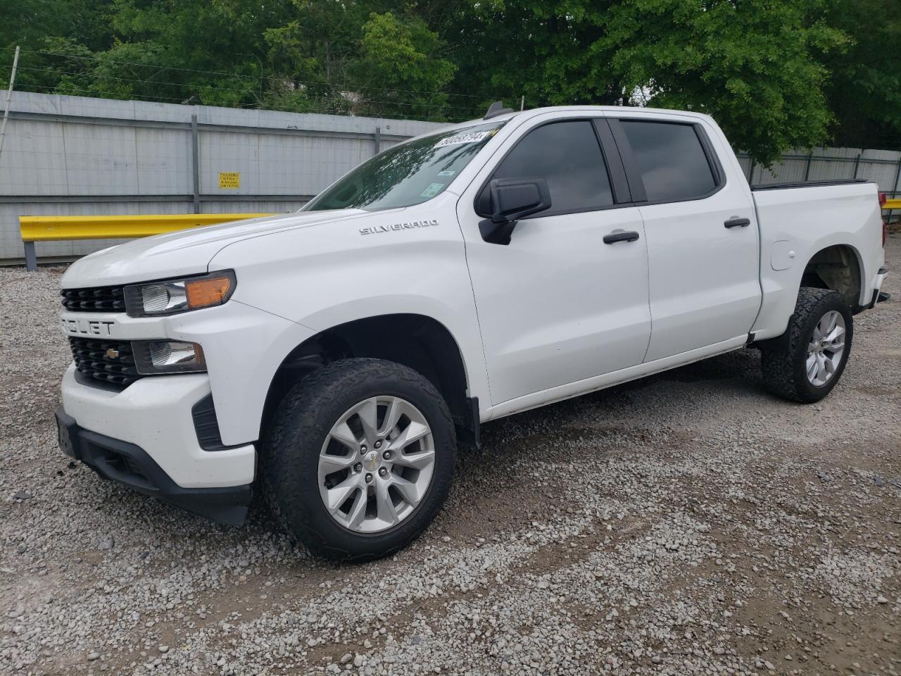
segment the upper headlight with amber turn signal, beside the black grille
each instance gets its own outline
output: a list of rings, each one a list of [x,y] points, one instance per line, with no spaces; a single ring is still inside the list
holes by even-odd
[[[125,287],[125,311],[130,317],[150,317],[221,306],[232,297],[235,285],[232,270],[203,277],[134,284]]]

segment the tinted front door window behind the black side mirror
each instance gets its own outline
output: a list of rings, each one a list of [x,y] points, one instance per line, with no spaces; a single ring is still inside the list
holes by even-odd
[[[588,120],[533,129],[514,146],[491,178],[534,177],[547,180],[551,190],[551,209],[542,215],[587,211],[614,203],[604,154]]]

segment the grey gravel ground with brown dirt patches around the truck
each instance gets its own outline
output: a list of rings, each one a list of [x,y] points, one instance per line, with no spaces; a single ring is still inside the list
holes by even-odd
[[[60,273],[0,269],[0,673],[901,671],[901,274],[820,404],[746,350],[486,425],[427,534],[337,566],[59,453]]]

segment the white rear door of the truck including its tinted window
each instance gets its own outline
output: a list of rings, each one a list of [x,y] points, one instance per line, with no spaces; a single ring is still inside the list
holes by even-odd
[[[760,309],[750,191],[730,180],[702,123],[610,120],[648,241],[651,343],[644,361],[746,336]]]

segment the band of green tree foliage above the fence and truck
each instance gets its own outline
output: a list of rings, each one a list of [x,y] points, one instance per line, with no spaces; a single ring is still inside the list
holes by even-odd
[[[764,162],[901,147],[897,0],[0,2],[27,91],[449,121],[522,96],[702,111]]]

